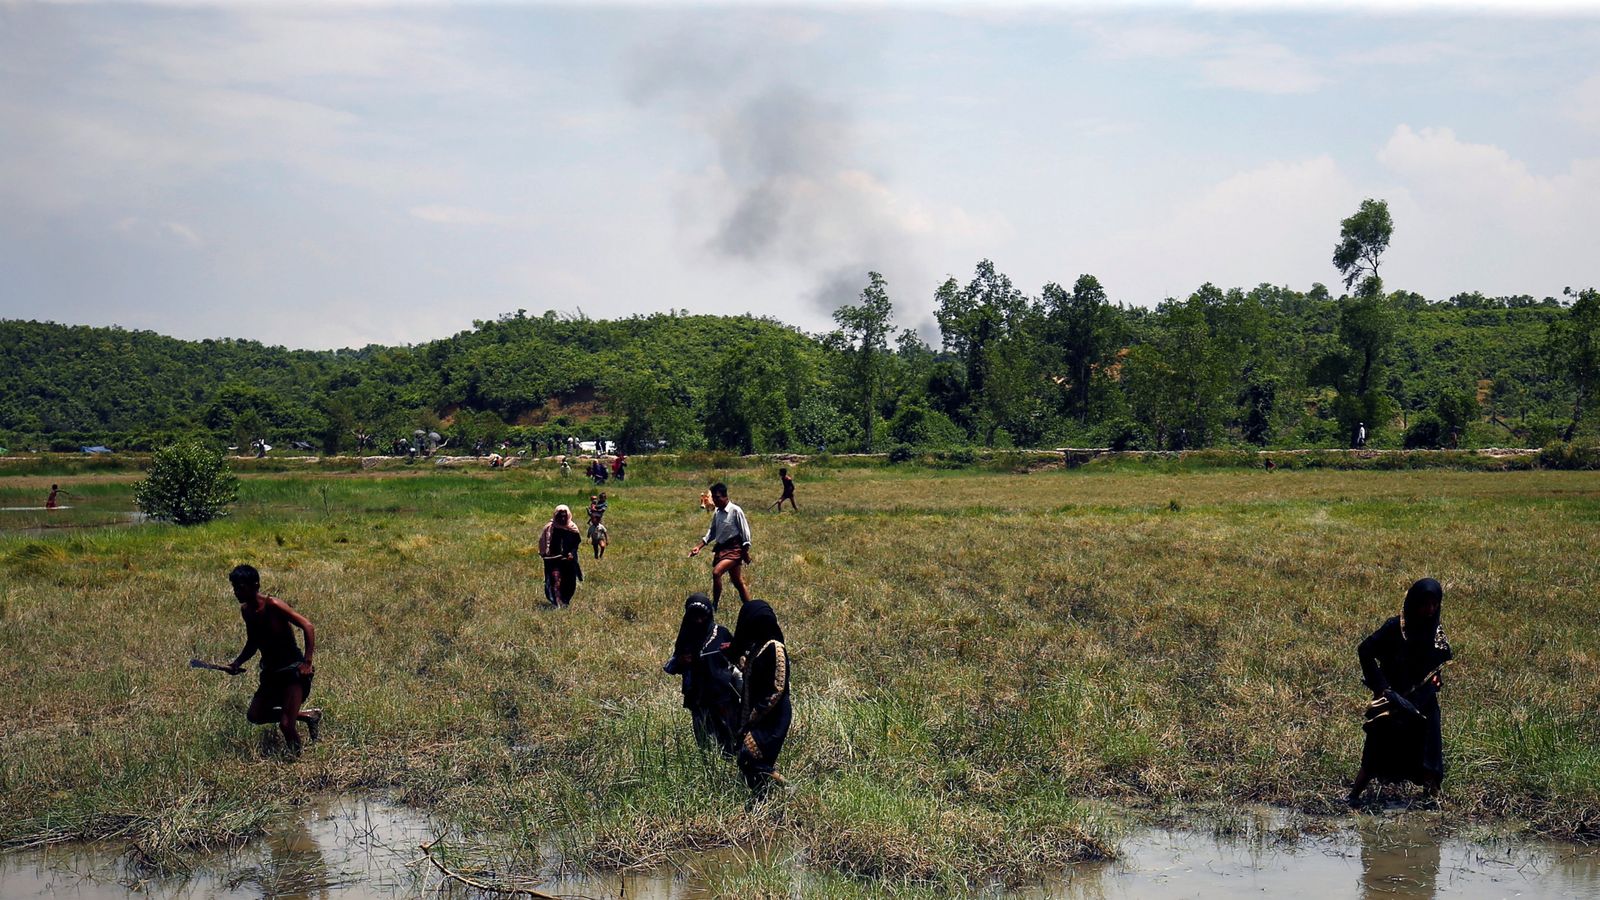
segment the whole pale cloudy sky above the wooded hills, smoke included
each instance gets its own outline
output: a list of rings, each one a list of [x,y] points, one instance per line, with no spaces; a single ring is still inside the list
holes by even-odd
[[[1149,306],[1600,285],[1600,6],[0,0],[0,319],[421,343],[901,327],[994,259]],[[1336,290],[1338,293],[1338,290]]]

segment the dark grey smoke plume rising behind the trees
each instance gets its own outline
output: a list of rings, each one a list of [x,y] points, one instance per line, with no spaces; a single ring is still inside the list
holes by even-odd
[[[848,104],[827,96],[824,80],[797,77],[819,69],[805,48],[750,30],[725,43],[678,32],[640,48],[629,96],[680,114],[715,149],[715,167],[685,199],[704,247],[811,274],[805,299],[832,312],[861,293],[867,271],[891,283],[917,271],[915,218],[867,159]]]

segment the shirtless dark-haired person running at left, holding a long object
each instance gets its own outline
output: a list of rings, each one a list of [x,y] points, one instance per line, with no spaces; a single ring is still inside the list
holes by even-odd
[[[322,709],[302,706],[310,697],[312,676],[317,673],[310,661],[317,652],[317,629],[294,607],[261,593],[261,573],[254,565],[234,567],[227,580],[238,601],[238,615],[245,620],[245,649],[227,665],[227,671],[245,671],[245,663],[261,653],[261,681],[245,717],[256,725],[277,722],[288,749],[299,753],[298,724],[306,722],[312,741],[320,737],[322,729]],[[304,653],[294,642],[296,628],[306,634]]]

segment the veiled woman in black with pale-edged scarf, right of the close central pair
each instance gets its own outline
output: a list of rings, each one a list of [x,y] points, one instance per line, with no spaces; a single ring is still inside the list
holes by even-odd
[[[789,703],[789,650],[778,613],[765,601],[739,607],[733,655],[744,669],[744,706],[739,725],[739,772],[755,796],[763,796],[778,775],[778,754],[789,737],[794,708]]]

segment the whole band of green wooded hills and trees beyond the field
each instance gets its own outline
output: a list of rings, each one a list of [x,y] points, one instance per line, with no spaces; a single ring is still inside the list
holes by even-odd
[[[938,348],[894,333],[875,275],[814,336],[752,317],[517,312],[418,346],[288,351],[5,320],[0,445],[150,448],[198,431],[349,452],[429,428],[458,447],[1338,447],[1357,423],[1379,447],[1528,445],[1592,431],[1600,405],[1582,402],[1600,392],[1592,290],[1427,303],[1202,285],[1149,309],[1109,303],[1090,275],[1026,296],[984,261],[934,299]]]

